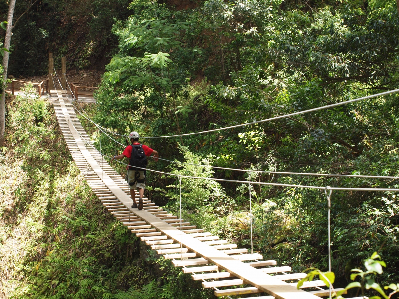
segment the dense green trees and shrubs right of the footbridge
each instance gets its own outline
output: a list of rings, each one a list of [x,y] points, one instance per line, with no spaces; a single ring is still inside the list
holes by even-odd
[[[179,10],[136,0],[129,6],[134,14],[113,28],[119,53],[107,66],[98,105],[90,107],[90,113],[119,134],[135,130],[142,136],[178,135],[396,88],[396,2],[374,1],[367,6],[317,1],[309,5],[210,0]],[[397,175],[397,106],[398,96],[390,95],[213,134],[142,142],[163,158],[193,164]],[[115,152],[113,142],[104,139],[104,149]],[[165,161],[151,162],[149,167],[176,174],[248,178],[245,172],[212,172]],[[258,173],[255,179],[321,187],[398,185],[396,180],[267,173]],[[148,196],[177,211],[177,183],[176,178],[149,174]],[[217,188],[223,196],[217,199],[212,184],[182,179],[184,217],[249,247],[248,187],[221,183]],[[328,265],[324,193],[252,188],[255,250],[295,270],[306,265],[324,273]],[[358,265],[375,250],[382,250],[390,265],[381,281],[398,276],[398,213],[395,193],[333,193],[336,283],[346,285],[351,265]]]

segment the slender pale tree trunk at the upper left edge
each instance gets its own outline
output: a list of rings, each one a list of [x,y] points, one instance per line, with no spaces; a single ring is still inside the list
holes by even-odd
[[[11,44],[11,31],[12,31],[12,18],[14,17],[14,8],[15,8],[15,1],[16,0],[10,0],[10,5],[8,6],[8,17],[7,17],[7,30],[6,30],[6,38],[4,40],[4,47],[7,50],[10,50],[10,44]],[[2,96],[1,96],[1,101],[0,101],[0,146],[4,146],[4,129],[6,125],[6,118],[5,118],[5,98],[6,98],[6,80],[7,80],[7,71],[8,71],[8,57],[9,57],[9,52],[4,51],[4,57],[3,57],[3,79],[4,79],[4,84],[2,88]]]

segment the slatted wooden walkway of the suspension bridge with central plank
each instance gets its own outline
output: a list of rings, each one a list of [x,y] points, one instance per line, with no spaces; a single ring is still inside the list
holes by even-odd
[[[325,286],[322,281],[304,283],[302,288],[307,291],[298,290],[296,283],[305,276],[304,273],[288,274],[286,272],[291,271],[288,266],[272,267],[277,264],[274,260],[262,261],[260,254],[248,254],[247,249],[219,240],[218,236],[188,222],[183,222],[180,231],[177,216],[146,198],[143,210],[130,208],[132,201],[128,184],[99,151],[89,145],[92,141],[81,126],[67,94],[51,90],[50,99],[69,152],[99,201],[152,250],[172,260],[174,266],[182,267],[184,273],[192,273],[192,278],[201,281],[204,288],[213,288],[215,296],[254,293],[266,293],[263,297],[256,297],[263,299],[328,296],[328,289],[321,288]]]

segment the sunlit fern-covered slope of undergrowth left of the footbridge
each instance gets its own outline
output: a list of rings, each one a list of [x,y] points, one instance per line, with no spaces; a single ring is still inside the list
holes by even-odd
[[[67,151],[51,103],[17,96],[8,104],[0,153],[0,297],[204,297],[169,261],[156,264],[159,257],[148,256],[101,207]]]

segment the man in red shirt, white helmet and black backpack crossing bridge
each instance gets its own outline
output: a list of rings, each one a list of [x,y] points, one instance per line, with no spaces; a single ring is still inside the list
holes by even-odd
[[[133,199],[132,208],[136,209],[138,207],[139,210],[142,210],[144,189],[146,189],[146,185],[144,183],[144,179],[146,178],[146,170],[141,168],[147,168],[147,157],[151,154],[154,155],[154,160],[158,161],[158,151],[149,148],[144,144],[140,144],[138,142],[139,137],[140,135],[137,132],[131,132],[129,135],[129,139],[132,144],[124,149],[122,155],[114,156],[109,163],[114,160],[123,159],[124,157],[129,158],[129,165],[126,167],[126,177],[127,182],[130,186],[130,195]],[[136,199],[134,196],[134,190],[136,188],[139,195],[138,206],[136,204]]]

